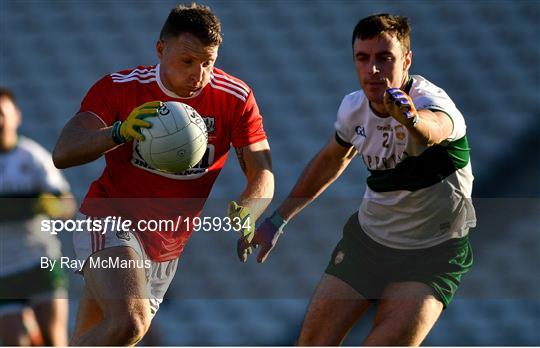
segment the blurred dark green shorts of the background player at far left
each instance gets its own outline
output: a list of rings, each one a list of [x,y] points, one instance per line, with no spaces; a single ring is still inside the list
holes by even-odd
[[[65,294],[67,276],[60,267],[42,269],[39,264],[28,270],[0,277],[0,311],[3,307],[29,305],[44,298]]]

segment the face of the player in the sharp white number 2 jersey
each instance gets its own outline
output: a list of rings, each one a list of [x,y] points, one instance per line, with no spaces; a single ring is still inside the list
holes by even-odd
[[[411,66],[412,53],[403,52],[395,35],[382,33],[374,38],[356,39],[354,64],[360,85],[369,101],[382,104],[389,87],[401,88]]]

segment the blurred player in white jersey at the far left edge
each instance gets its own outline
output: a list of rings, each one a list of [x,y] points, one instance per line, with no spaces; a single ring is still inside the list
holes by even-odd
[[[60,258],[60,241],[40,225],[45,215],[72,215],[75,201],[51,154],[17,135],[20,121],[13,94],[0,88],[0,340],[66,345],[66,277],[59,267],[41,268],[42,257]],[[25,318],[35,319],[41,341],[32,341]]]

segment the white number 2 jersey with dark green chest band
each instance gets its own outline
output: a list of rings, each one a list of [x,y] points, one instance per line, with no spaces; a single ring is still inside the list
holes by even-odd
[[[450,97],[419,75],[406,91],[417,110],[450,117],[447,140],[418,144],[398,121],[375,115],[363,91],[345,96],[335,128],[338,141],[353,145],[370,171],[358,213],[364,231],[391,248],[419,249],[463,237],[476,225],[473,175],[465,121]]]

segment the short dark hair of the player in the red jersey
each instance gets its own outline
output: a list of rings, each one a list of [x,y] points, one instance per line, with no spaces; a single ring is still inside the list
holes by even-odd
[[[184,33],[194,35],[205,46],[219,46],[223,41],[219,19],[210,7],[196,3],[173,8],[161,28],[159,38],[166,40]]]

